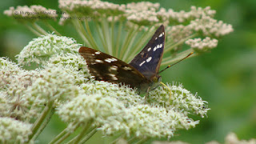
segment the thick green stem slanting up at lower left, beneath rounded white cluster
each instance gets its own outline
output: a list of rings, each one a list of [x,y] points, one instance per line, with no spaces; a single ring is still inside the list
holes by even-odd
[[[42,126],[42,122],[45,120],[47,114],[50,113],[50,110],[52,109],[53,105],[54,105],[54,102],[49,101],[45,109],[42,111],[42,114],[40,115],[40,117],[37,118],[36,122],[34,122],[34,125],[31,129],[32,134],[30,134],[29,136],[29,142],[32,138],[34,138],[34,135],[37,133],[40,126]]]

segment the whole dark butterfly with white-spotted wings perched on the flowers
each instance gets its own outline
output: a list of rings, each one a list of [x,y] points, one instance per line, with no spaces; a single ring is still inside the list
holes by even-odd
[[[160,26],[146,46],[128,64],[109,54],[85,46],[79,54],[86,59],[90,74],[98,81],[129,85],[140,94],[159,86],[158,74],[165,46],[165,28]]]

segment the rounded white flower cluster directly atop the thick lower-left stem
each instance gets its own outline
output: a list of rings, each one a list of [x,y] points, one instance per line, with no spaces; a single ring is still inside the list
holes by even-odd
[[[40,70],[40,78],[28,87],[26,101],[42,106],[47,102],[66,101],[78,95],[74,75],[68,74],[63,66],[48,66]]]

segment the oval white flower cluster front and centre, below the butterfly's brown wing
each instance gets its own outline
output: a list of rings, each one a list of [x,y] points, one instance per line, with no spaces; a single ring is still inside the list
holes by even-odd
[[[116,98],[102,97],[102,94],[81,94],[70,102],[59,106],[57,114],[64,122],[102,122],[118,116],[125,107]]]

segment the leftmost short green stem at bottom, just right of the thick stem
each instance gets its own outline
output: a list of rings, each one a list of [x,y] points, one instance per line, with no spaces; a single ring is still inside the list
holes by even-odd
[[[73,125],[73,124],[70,124]],[[79,124],[74,125],[74,130],[75,131],[78,129]],[[62,130],[62,132],[60,134],[58,134],[54,139],[52,139],[49,144],[54,144],[54,143],[61,143],[63,142],[66,138],[68,138],[70,136],[70,134],[72,134],[72,132],[70,132],[70,128],[67,127],[65,130]]]

